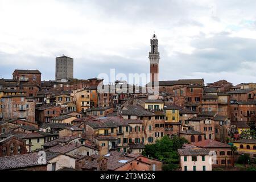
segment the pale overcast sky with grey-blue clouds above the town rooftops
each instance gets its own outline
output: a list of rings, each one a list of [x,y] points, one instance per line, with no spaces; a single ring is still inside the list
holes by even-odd
[[[159,39],[160,80],[256,82],[256,1],[0,0],[0,77],[74,58],[76,78],[148,73]]]

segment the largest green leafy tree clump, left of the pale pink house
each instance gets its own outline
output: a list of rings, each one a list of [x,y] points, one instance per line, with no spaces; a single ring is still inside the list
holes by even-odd
[[[147,144],[142,155],[163,161],[164,170],[174,170],[179,167],[179,154],[177,150],[184,143],[188,143],[185,138],[174,137],[170,139],[165,136],[160,140],[156,140],[155,144]]]

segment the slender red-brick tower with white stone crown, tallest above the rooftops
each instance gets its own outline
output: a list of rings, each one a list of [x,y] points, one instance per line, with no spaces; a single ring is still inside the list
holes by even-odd
[[[149,53],[150,59],[150,82],[158,82],[159,80],[159,71],[158,64],[160,60],[160,55],[158,52],[158,39],[156,39],[156,35],[154,34],[150,40],[151,44],[151,52]]]

